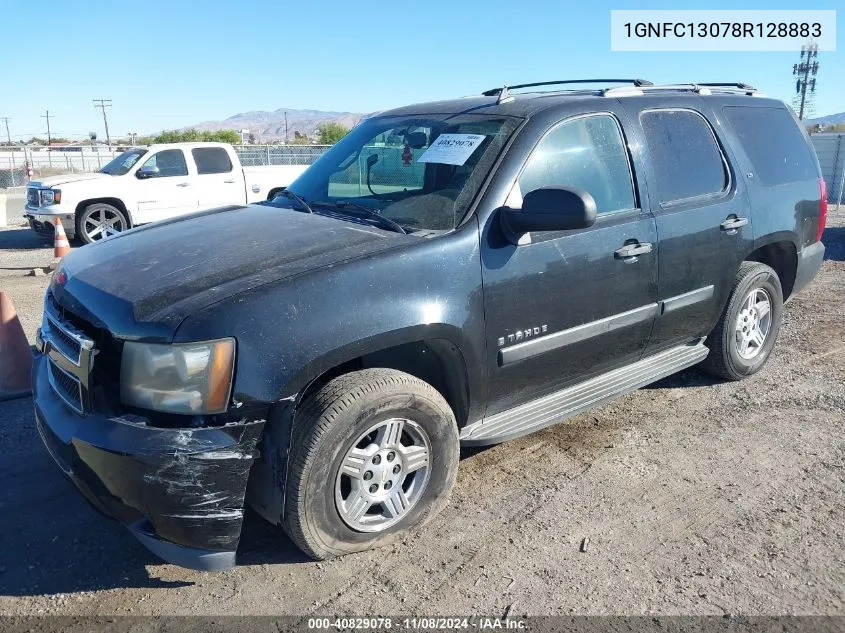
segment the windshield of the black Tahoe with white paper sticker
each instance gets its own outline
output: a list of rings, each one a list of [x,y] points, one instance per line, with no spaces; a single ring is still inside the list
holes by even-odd
[[[343,137],[288,191],[315,213],[360,220],[373,211],[409,232],[450,230],[518,123],[479,114],[374,117]],[[289,197],[272,204],[296,206]]]

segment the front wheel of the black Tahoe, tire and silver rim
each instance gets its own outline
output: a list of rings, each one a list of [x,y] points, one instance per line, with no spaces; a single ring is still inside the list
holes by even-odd
[[[428,383],[392,369],[339,376],[296,415],[285,530],[317,559],[392,543],[446,505],[458,452],[452,410]]]

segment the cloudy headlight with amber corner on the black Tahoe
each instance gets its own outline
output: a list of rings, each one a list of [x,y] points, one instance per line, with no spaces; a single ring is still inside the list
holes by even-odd
[[[155,345],[124,343],[120,399],[168,413],[223,413],[235,368],[235,339]]]

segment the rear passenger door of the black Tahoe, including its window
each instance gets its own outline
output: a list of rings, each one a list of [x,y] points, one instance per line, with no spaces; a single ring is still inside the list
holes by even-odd
[[[646,103],[628,106],[644,139],[659,241],[660,316],[651,354],[710,333],[753,234],[743,174],[733,168],[722,123],[704,100]]]

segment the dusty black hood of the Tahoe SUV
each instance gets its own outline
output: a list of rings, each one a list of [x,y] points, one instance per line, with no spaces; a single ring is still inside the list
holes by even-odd
[[[63,260],[67,281],[51,289],[119,338],[169,341],[212,303],[418,239],[292,209],[227,207],[74,249]]]

